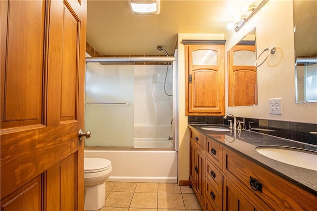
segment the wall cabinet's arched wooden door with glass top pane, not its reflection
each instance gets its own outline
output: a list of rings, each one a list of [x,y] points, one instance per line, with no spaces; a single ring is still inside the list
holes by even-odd
[[[224,115],[224,45],[186,45],[186,115]]]

